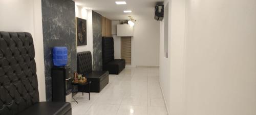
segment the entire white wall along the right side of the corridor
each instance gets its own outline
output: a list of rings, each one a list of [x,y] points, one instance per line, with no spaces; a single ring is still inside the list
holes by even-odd
[[[256,1],[172,0],[169,12],[159,78],[169,114],[256,114]]]

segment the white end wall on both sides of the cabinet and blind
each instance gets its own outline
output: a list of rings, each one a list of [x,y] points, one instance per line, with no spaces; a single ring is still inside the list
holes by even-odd
[[[112,21],[115,59],[121,59],[121,37],[116,36],[116,25]],[[160,22],[155,20],[137,20],[132,37],[132,66],[159,66],[159,30]]]

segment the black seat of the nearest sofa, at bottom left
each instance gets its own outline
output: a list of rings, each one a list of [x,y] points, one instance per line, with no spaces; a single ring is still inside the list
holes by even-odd
[[[71,112],[71,104],[66,102],[39,102],[29,107],[18,115],[36,114],[36,115],[63,115]]]

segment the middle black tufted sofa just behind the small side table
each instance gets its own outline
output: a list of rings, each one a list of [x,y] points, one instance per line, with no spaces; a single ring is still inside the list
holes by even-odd
[[[77,70],[91,81],[91,91],[99,93],[109,83],[108,71],[93,71],[92,54],[90,51],[77,53]],[[78,86],[78,90],[82,87]]]

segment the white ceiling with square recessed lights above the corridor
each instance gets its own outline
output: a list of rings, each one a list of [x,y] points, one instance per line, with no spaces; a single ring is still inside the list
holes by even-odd
[[[136,20],[153,20],[155,5],[163,0],[73,0],[76,5],[94,10],[111,20],[127,20],[131,15]],[[125,1],[126,5],[116,5],[116,1]],[[132,10],[132,13],[123,13]]]

